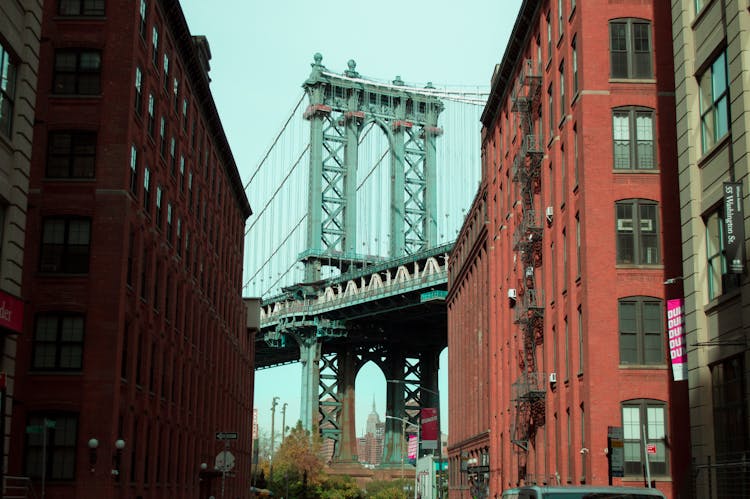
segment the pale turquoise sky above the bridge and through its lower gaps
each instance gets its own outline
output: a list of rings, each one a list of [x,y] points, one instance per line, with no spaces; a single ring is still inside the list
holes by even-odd
[[[360,74],[378,80],[398,75],[407,84],[489,89],[521,0],[182,0],[181,4],[191,33],[205,35],[210,44],[211,90],[245,184],[302,95],[301,85],[316,52],[337,73],[354,59]],[[252,190],[247,195],[257,209]],[[450,397],[447,362],[446,349],[439,373],[445,433]],[[300,379],[299,364],[256,372],[255,407],[261,431],[270,432],[274,396],[280,399],[276,430],[283,403],[288,404],[287,426],[295,424]],[[373,399],[383,418],[385,387],[379,369],[372,364],[362,368],[355,385],[358,435]]]

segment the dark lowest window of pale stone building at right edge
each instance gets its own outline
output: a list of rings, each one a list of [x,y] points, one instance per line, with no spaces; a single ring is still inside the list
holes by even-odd
[[[718,459],[738,457],[750,445],[747,429],[747,392],[742,356],[711,366],[714,439]],[[730,496],[727,496],[730,497]]]

